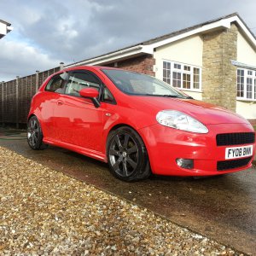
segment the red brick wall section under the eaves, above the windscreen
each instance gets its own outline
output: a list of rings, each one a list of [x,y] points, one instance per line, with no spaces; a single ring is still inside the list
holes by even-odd
[[[116,63],[116,66],[114,66],[114,63]],[[142,55],[142,56],[137,56],[125,61],[115,61],[113,63],[107,64],[104,66],[118,67],[118,68],[130,70],[130,71],[136,71],[139,73],[145,73],[150,76],[154,76],[154,71],[153,71],[154,63],[155,63],[155,60],[152,55]]]

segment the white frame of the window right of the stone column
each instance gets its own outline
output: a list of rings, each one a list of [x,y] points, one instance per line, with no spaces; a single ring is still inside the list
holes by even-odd
[[[243,70],[243,72],[244,72],[243,97],[237,96],[237,84],[238,84],[237,71],[238,70]],[[243,67],[237,67],[237,71],[236,71],[236,99],[240,100],[240,101],[256,102],[256,70],[249,69],[249,68],[243,68]],[[248,74],[248,72],[251,72],[252,74]],[[247,79],[253,79],[252,98],[247,97]]]

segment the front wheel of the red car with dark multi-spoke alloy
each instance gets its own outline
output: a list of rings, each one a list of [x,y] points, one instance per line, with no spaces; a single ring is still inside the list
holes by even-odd
[[[142,180],[151,174],[143,140],[128,126],[109,134],[107,154],[110,172],[125,182]]]

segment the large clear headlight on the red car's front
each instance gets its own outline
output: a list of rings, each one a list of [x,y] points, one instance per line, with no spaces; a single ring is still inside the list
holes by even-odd
[[[160,125],[165,125],[178,130],[207,133],[208,129],[200,121],[192,118],[188,114],[177,110],[162,110],[156,115],[156,120]]]

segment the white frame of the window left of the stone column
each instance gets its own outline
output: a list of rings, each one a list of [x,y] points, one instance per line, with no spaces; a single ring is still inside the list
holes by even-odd
[[[165,60],[163,59],[162,61],[162,79],[164,81],[164,62],[170,63],[171,64],[171,72],[170,72],[170,84],[173,86],[173,72],[178,72],[181,73],[181,87],[177,87],[177,86],[173,86],[175,88],[177,88],[178,90],[188,90],[188,91],[196,91],[196,92],[201,92],[201,67],[199,66],[195,66],[195,65],[191,65],[191,64],[186,64],[186,63],[182,63],[182,62],[177,62],[177,61],[169,61],[169,60]],[[174,65],[180,65],[181,69],[177,69],[174,68]],[[190,67],[190,71],[185,70],[184,67]],[[198,68],[199,69],[199,88],[196,89],[194,88],[194,68]],[[183,88],[183,74],[189,74],[190,75],[190,89],[188,88]]]

